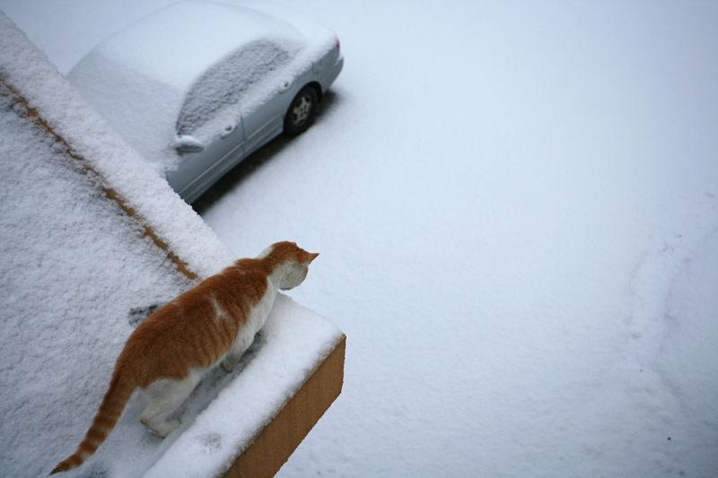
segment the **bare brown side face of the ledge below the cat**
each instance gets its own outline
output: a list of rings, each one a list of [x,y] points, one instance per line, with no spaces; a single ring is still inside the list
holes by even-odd
[[[271,478],[279,471],[341,393],[345,349],[346,335],[223,478]]]

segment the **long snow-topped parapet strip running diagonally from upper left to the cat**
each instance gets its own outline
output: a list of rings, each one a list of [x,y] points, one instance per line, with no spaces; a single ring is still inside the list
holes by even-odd
[[[0,23],[2,70],[7,88],[15,91],[71,157],[92,170],[97,186],[107,190],[162,247],[186,261],[190,275],[215,274],[235,257],[192,209],[148,166],[68,83],[43,52],[14,28],[6,17]],[[201,238],[201,239],[197,239]],[[183,265],[184,266],[184,265]]]

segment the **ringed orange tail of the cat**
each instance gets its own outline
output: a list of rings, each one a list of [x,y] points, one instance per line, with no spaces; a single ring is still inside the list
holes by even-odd
[[[60,462],[50,474],[66,472],[82,465],[107,439],[109,432],[115,428],[119,416],[125,410],[125,405],[137,387],[135,379],[126,378],[127,375],[130,374],[123,373],[121,369],[115,369],[112,379],[109,381],[109,388],[102,399],[100,410],[97,411],[83,442],[72,456]]]

